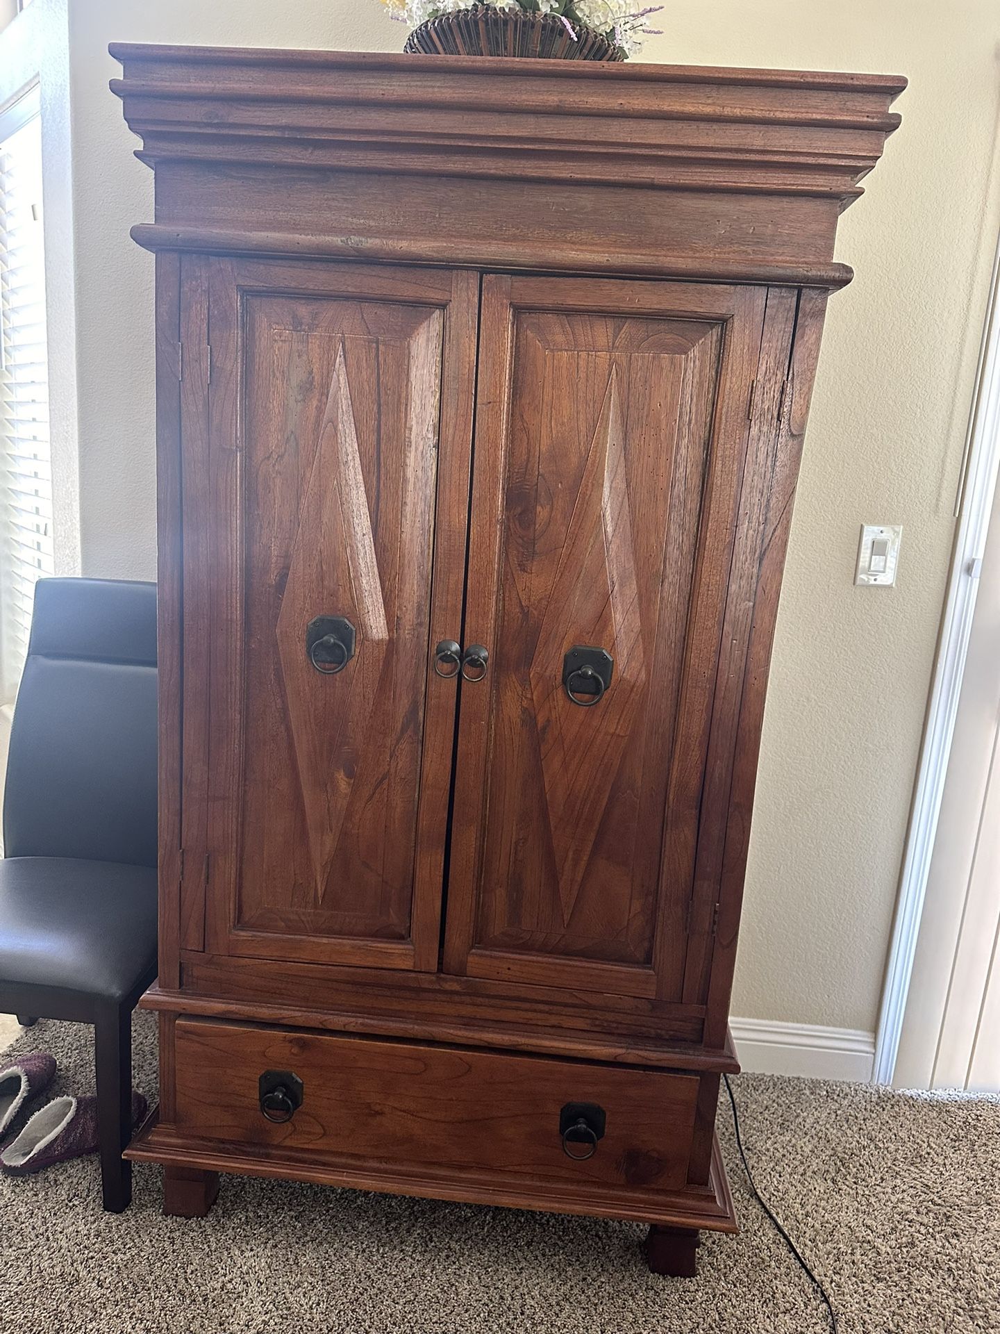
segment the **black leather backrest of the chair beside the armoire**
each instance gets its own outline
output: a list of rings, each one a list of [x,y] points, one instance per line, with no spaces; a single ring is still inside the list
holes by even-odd
[[[36,584],[4,852],[156,866],[156,584]]]

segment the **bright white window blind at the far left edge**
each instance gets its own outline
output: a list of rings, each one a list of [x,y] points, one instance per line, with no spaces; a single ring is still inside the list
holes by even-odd
[[[35,580],[55,572],[36,105],[0,116],[0,703],[24,666]]]

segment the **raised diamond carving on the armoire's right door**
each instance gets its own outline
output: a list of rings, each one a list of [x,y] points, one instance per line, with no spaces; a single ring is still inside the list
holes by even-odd
[[[563,688],[573,644],[615,659],[593,708]],[[647,679],[617,368],[612,364],[529,680],[563,920],[568,924]]]

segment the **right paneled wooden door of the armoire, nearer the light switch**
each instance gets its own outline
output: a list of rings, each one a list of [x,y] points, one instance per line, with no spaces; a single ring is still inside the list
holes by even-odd
[[[484,280],[449,972],[681,999],[765,295]]]

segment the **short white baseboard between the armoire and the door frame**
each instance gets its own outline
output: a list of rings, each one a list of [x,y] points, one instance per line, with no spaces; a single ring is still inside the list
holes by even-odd
[[[873,1033],[772,1019],[731,1019],[729,1027],[736,1055],[748,1074],[871,1083]]]

